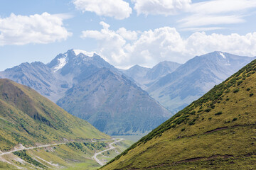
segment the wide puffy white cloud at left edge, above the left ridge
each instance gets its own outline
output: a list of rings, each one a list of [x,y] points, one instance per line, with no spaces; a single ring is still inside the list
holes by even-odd
[[[58,15],[16,16],[11,13],[7,18],[0,18],[0,45],[46,44],[66,40],[71,35]]]

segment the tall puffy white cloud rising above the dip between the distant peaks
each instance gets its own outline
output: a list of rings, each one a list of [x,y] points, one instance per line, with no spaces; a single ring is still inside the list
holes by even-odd
[[[175,28],[169,27],[144,31],[138,40],[126,45],[125,50],[129,61],[120,63],[120,67],[125,66],[126,62],[146,67],[152,67],[163,60],[181,62],[178,57],[186,52],[181,35]]]

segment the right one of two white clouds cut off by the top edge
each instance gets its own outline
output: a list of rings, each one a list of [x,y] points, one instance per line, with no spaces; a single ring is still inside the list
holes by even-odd
[[[132,0],[137,14],[174,15],[189,8],[191,0]]]

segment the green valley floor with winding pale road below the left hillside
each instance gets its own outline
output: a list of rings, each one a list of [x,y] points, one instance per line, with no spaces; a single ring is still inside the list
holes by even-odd
[[[0,169],[99,169],[133,142],[123,139],[65,142],[0,151]]]

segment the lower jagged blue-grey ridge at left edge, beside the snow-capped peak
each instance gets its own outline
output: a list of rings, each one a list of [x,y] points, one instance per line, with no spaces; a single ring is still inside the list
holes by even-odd
[[[30,86],[52,101],[58,100],[67,90],[66,81],[56,77],[55,73],[42,62],[20,64],[0,72],[0,77]]]

